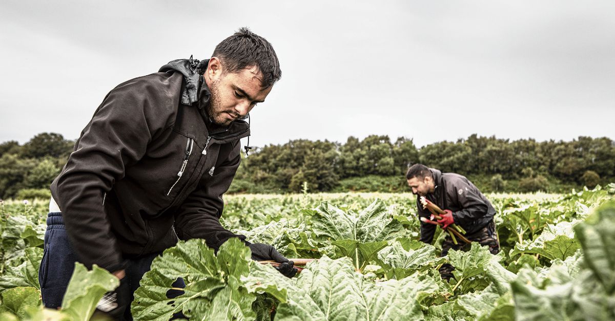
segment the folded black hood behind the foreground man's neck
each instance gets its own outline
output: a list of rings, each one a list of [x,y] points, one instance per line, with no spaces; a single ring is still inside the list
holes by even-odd
[[[207,60],[192,59],[177,59],[167,63],[158,69],[159,73],[168,73],[169,71],[179,71],[186,80],[186,85],[181,92],[181,103],[184,105],[192,105],[199,101],[199,89],[201,75],[207,69]]]

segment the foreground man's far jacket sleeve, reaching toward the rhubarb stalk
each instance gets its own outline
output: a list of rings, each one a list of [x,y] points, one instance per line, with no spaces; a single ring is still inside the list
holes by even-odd
[[[205,239],[207,246],[216,252],[220,245],[231,237],[245,240],[220,224],[224,208],[222,196],[229,186],[240,162],[240,146],[237,141],[229,156],[217,164],[212,176],[205,173],[194,190],[175,214],[175,232],[182,240]]]

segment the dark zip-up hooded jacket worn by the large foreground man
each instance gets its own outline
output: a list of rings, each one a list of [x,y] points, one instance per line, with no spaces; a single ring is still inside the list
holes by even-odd
[[[217,249],[218,219],[240,162],[244,121],[216,127],[204,113],[207,61],[175,60],[118,85],[81,132],[51,185],[82,263],[109,271],[179,239]]]

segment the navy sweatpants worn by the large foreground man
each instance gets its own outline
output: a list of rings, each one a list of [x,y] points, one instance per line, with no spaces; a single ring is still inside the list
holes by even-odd
[[[161,253],[151,253],[139,258],[127,259],[125,268],[126,276],[121,280],[117,288],[117,302],[120,307],[125,307],[124,319],[132,320],[130,316],[130,303],[133,293],[139,287],[143,274],[149,271],[151,263]],[[62,305],[62,299],[68,287],[68,282],[73,275],[74,263],[78,261],[77,255],[66,235],[62,213],[49,213],[47,217],[47,231],[45,232],[44,253],[39,269],[39,284],[41,285],[42,302],[46,307],[57,309]],[[114,271],[111,271],[114,272]],[[186,285],[182,279],[173,283],[173,287],[184,288]],[[175,298],[183,291],[170,290],[167,297]]]

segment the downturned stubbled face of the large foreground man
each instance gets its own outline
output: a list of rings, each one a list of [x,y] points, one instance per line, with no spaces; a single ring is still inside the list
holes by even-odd
[[[207,114],[218,125],[228,126],[232,121],[250,113],[257,103],[262,103],[272,87],[261,88],[261,74],[256,67],[237,73],[221,73],[210,78],[212,93]]]

